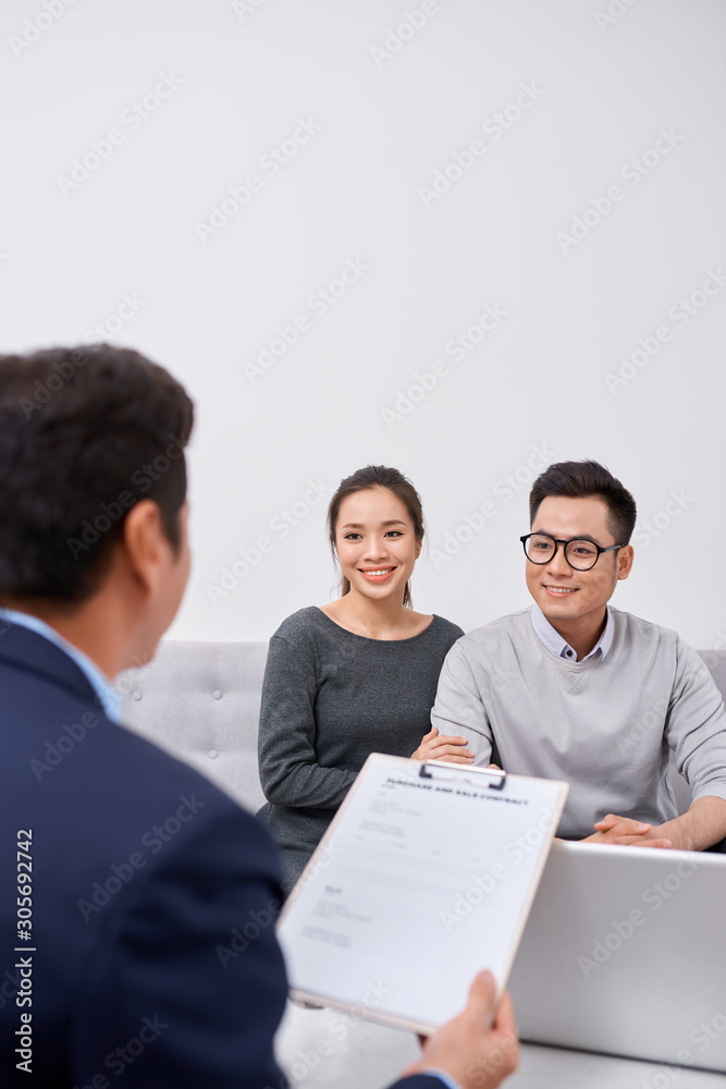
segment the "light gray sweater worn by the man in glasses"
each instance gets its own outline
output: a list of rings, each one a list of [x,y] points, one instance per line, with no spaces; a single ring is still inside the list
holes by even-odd
[[[612,647],[558,658],[530,610],[470,632],[446,656],[431,722],[462,734],[475,763],[570,784],[558,834],[583,839],[607,812],[660,824],[678,815],[669,748],[693,799],[726,800],[726,712],[675,632],[611,607]]]

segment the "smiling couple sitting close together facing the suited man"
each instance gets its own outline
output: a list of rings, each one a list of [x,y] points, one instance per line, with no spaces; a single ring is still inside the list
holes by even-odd
[[[342,596],[283,622],[262,687],[258,816],[288,889],[377,750],[566,780],[566,839],[698,851],[726,836],[709,670],[675,632],[607,603],[632,568],[632,495],[595,462],[562,462],[534,481],[529,521],[534,603],[464,635],[407,608],[423,541],[413,485],[383,466],[341,484],[328,529]],[[692,790],[682,816],[670,750]]]

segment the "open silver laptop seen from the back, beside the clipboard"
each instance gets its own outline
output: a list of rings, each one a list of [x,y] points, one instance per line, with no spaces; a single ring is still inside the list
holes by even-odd
[[[553,843],[508,987],[522,1040],[726,1072],[726,856]]]

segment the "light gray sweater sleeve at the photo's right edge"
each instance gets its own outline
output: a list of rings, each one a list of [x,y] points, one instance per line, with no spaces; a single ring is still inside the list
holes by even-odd
[[[706,795],[726,800],[724,701],[705,663],[682,639],[676,646],[666,736],[693,800]]]

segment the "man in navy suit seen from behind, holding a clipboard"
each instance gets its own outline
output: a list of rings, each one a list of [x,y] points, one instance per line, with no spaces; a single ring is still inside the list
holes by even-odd
[[[3,1086],[285,1086],[272,843],[120,727],[109,681],[184,592],[192,425],[134,352],[0,357]],[[517,1042],[507,996],[487,1028],[493,994],[481,974],[397,1085],[499,1085]]]

